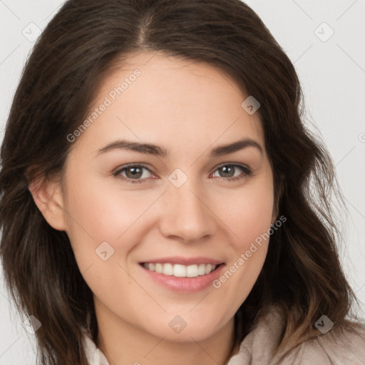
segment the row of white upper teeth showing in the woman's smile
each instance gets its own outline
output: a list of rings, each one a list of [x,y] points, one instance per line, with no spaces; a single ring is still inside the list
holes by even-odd
[[[217,265],[198,264],[198,265],[181,265],[181,264],[143,264],[145,269],[158,272],[158,274],[173,275],[174,277],[198,277],[212,272]]]

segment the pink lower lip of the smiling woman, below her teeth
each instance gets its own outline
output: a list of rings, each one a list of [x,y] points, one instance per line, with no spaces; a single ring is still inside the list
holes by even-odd
[[[164,275],[158,272],[150,271],[142,265],[140,267],[148,276],[155,282],[162,284],[170,290],[176,292],[199,292],[202,289],[209,287],[212,282],[220,276],[225,264],[220,264],[214,271],[209,274],[198,277],[174,277],[173,275]]]

